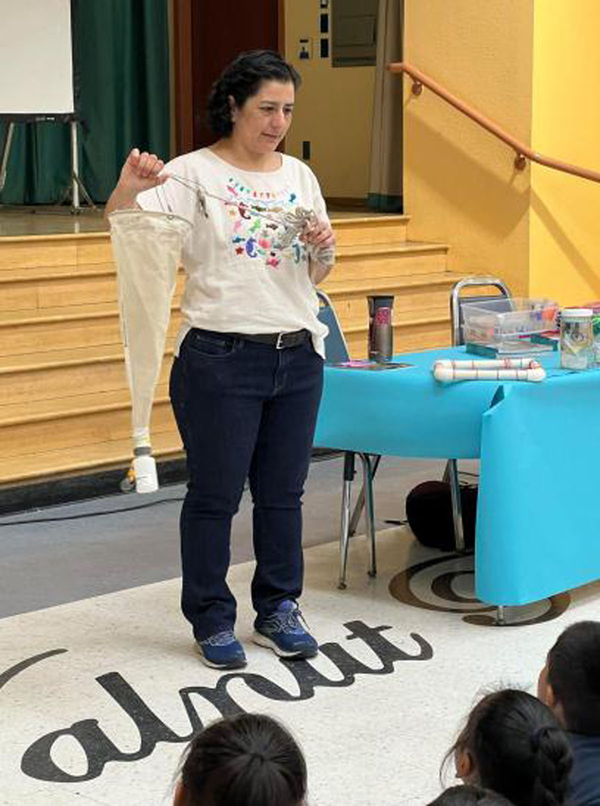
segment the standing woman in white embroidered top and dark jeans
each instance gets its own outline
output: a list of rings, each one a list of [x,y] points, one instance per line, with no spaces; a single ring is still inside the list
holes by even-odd
[[[181,511],[181,605],[202,660],[221,669],[246,663],[225,578],[231,518],[247,477],[253,640],[285,658],[318,651],[298,609],[301,498],[327,334],[313,283],[331,268],[334,236],[310,168],[276,151],[298,85],[298,73],[277,53],[242,53],[210,93],[214,145],[166,168],[134,149],[106,205],[107,213],[140,206],[194,222],[183,251],[183,325],[170,380],[190,474]],[[193,192],[198,186],[203,205]],[[280,243],[277,221],[298,206],[315,218],[290,245]]]

